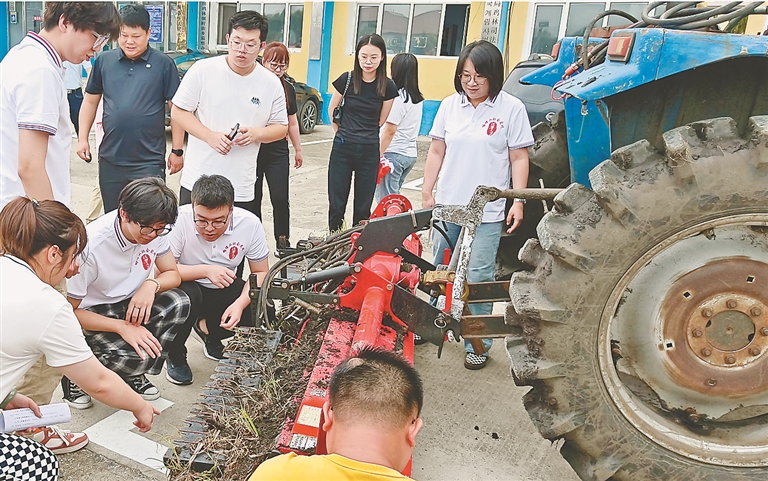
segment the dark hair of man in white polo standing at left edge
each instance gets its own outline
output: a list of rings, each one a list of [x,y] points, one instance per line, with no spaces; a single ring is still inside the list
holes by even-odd
[[[93,30],[110,40],[120,35],[120,16],[112,2],[46,2],[43,28],[56,28],[62,16],[75,30]]]

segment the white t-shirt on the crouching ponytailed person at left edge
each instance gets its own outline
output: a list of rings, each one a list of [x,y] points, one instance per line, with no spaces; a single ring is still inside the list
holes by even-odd
[[[0,398],[45,354],[52,367],[93,356],[72,305],[24,261],[0,256]]]

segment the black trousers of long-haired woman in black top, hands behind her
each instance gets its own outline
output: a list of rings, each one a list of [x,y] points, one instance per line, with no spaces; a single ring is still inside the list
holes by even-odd
[[[344,222],[353,172],[355,197],[352,224],[356,225],[371,216],[371,203],[379,174],[379,144],[345,142],[337,135],[333,139],[328,165],[328,228],[331,232],[341,229]]]

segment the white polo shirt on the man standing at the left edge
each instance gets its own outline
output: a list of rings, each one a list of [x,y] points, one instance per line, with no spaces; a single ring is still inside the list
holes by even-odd
[[[29,32],[0,62],[0,208],[24,195],[19,178],[19,130],[48,136],[45,170],[54,199],[69,205],[72,129],[64,72],[58,52]]]

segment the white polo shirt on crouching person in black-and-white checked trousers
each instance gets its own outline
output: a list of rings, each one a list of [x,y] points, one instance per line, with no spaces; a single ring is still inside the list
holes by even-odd
[[[67,281],[67,295],[80,299],[81,309],[133,297],[152,272],[155,259],[171,250],[168,236],[146,245],[129,242],[116,210],[88,224],[86,231],[88,245],[80,273]]]

